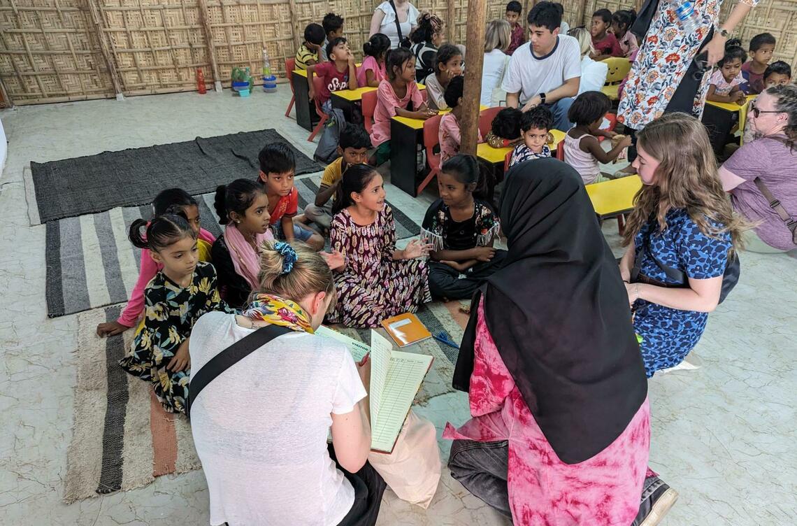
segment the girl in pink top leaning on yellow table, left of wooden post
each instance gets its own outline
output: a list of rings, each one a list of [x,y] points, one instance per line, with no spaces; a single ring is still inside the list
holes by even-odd
[[[406,48],[387,54],[387,78],[376,92],[371,144],[376,147],[374,163],[379,166],[391,158],[391,119],[395,116],[426,120],[438,114],[426,107],[415,84],[415,57]],[[417,108],[417,109],[415,109]]]

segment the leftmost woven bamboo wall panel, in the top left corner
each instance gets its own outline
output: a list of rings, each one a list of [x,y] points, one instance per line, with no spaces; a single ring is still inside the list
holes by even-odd
[[[84,0],[0,2],[0,80],[6,103],[114,95]]]

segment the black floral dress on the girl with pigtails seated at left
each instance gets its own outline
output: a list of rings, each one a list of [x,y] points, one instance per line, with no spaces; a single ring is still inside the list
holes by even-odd
[[[144,290],[143,327],[119,364],[131,375],[152,382],[163,409],[170,413],[186,412],[190,369],[172,372],[166,366],[199,316],[211,311],[236,312],[218,296],[216,270],[210,263],[197,264],[186,288],[161,271]]]

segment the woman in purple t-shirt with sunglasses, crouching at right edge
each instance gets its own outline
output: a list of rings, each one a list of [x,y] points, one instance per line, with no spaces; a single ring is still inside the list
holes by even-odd
[[[748,122],[756,139],[720,167],[723,189],[733,208],[758,225],[746,233],[748,250],[795,249],[797,223],[790,222],[797,220],[797,86],[767,88],[750,104]]]

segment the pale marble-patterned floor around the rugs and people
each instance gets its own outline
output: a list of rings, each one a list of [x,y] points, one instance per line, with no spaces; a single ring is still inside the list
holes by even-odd
[[[130,492],[61,502],[72,433],[77,320],[45,309],[45,227],[29,226],[22,170],[44,162],[277,128],[312,155],[283,116],[289,90],[249,100],[209,93],[30,106],[0,112],[10,140],[0,178],[0,524],[208,524],[201,471]],[[69,184],[68,181],[64,182]],[[112,189],[108,189],[112,191]],[[388,196],[400,192],[388,187]],[[432,195],[408,214],[419,217]],[[406,211],[406,210],[405,210]],[[613,231],[614,229],[614,231]],[[619,251],[614,222],[604,228]],[[681,493],[663,524],[794,524],[797,261],[744,253],[740,285],[714,312],[695,353],[703,367],[650,382],[650,464]],[[464,394],[418,408],[438,430],[468,417]],[[443,454],[448,445],[441,443]],[[379,524],[506,524],[445,473],[428,510],[386,493]]]

